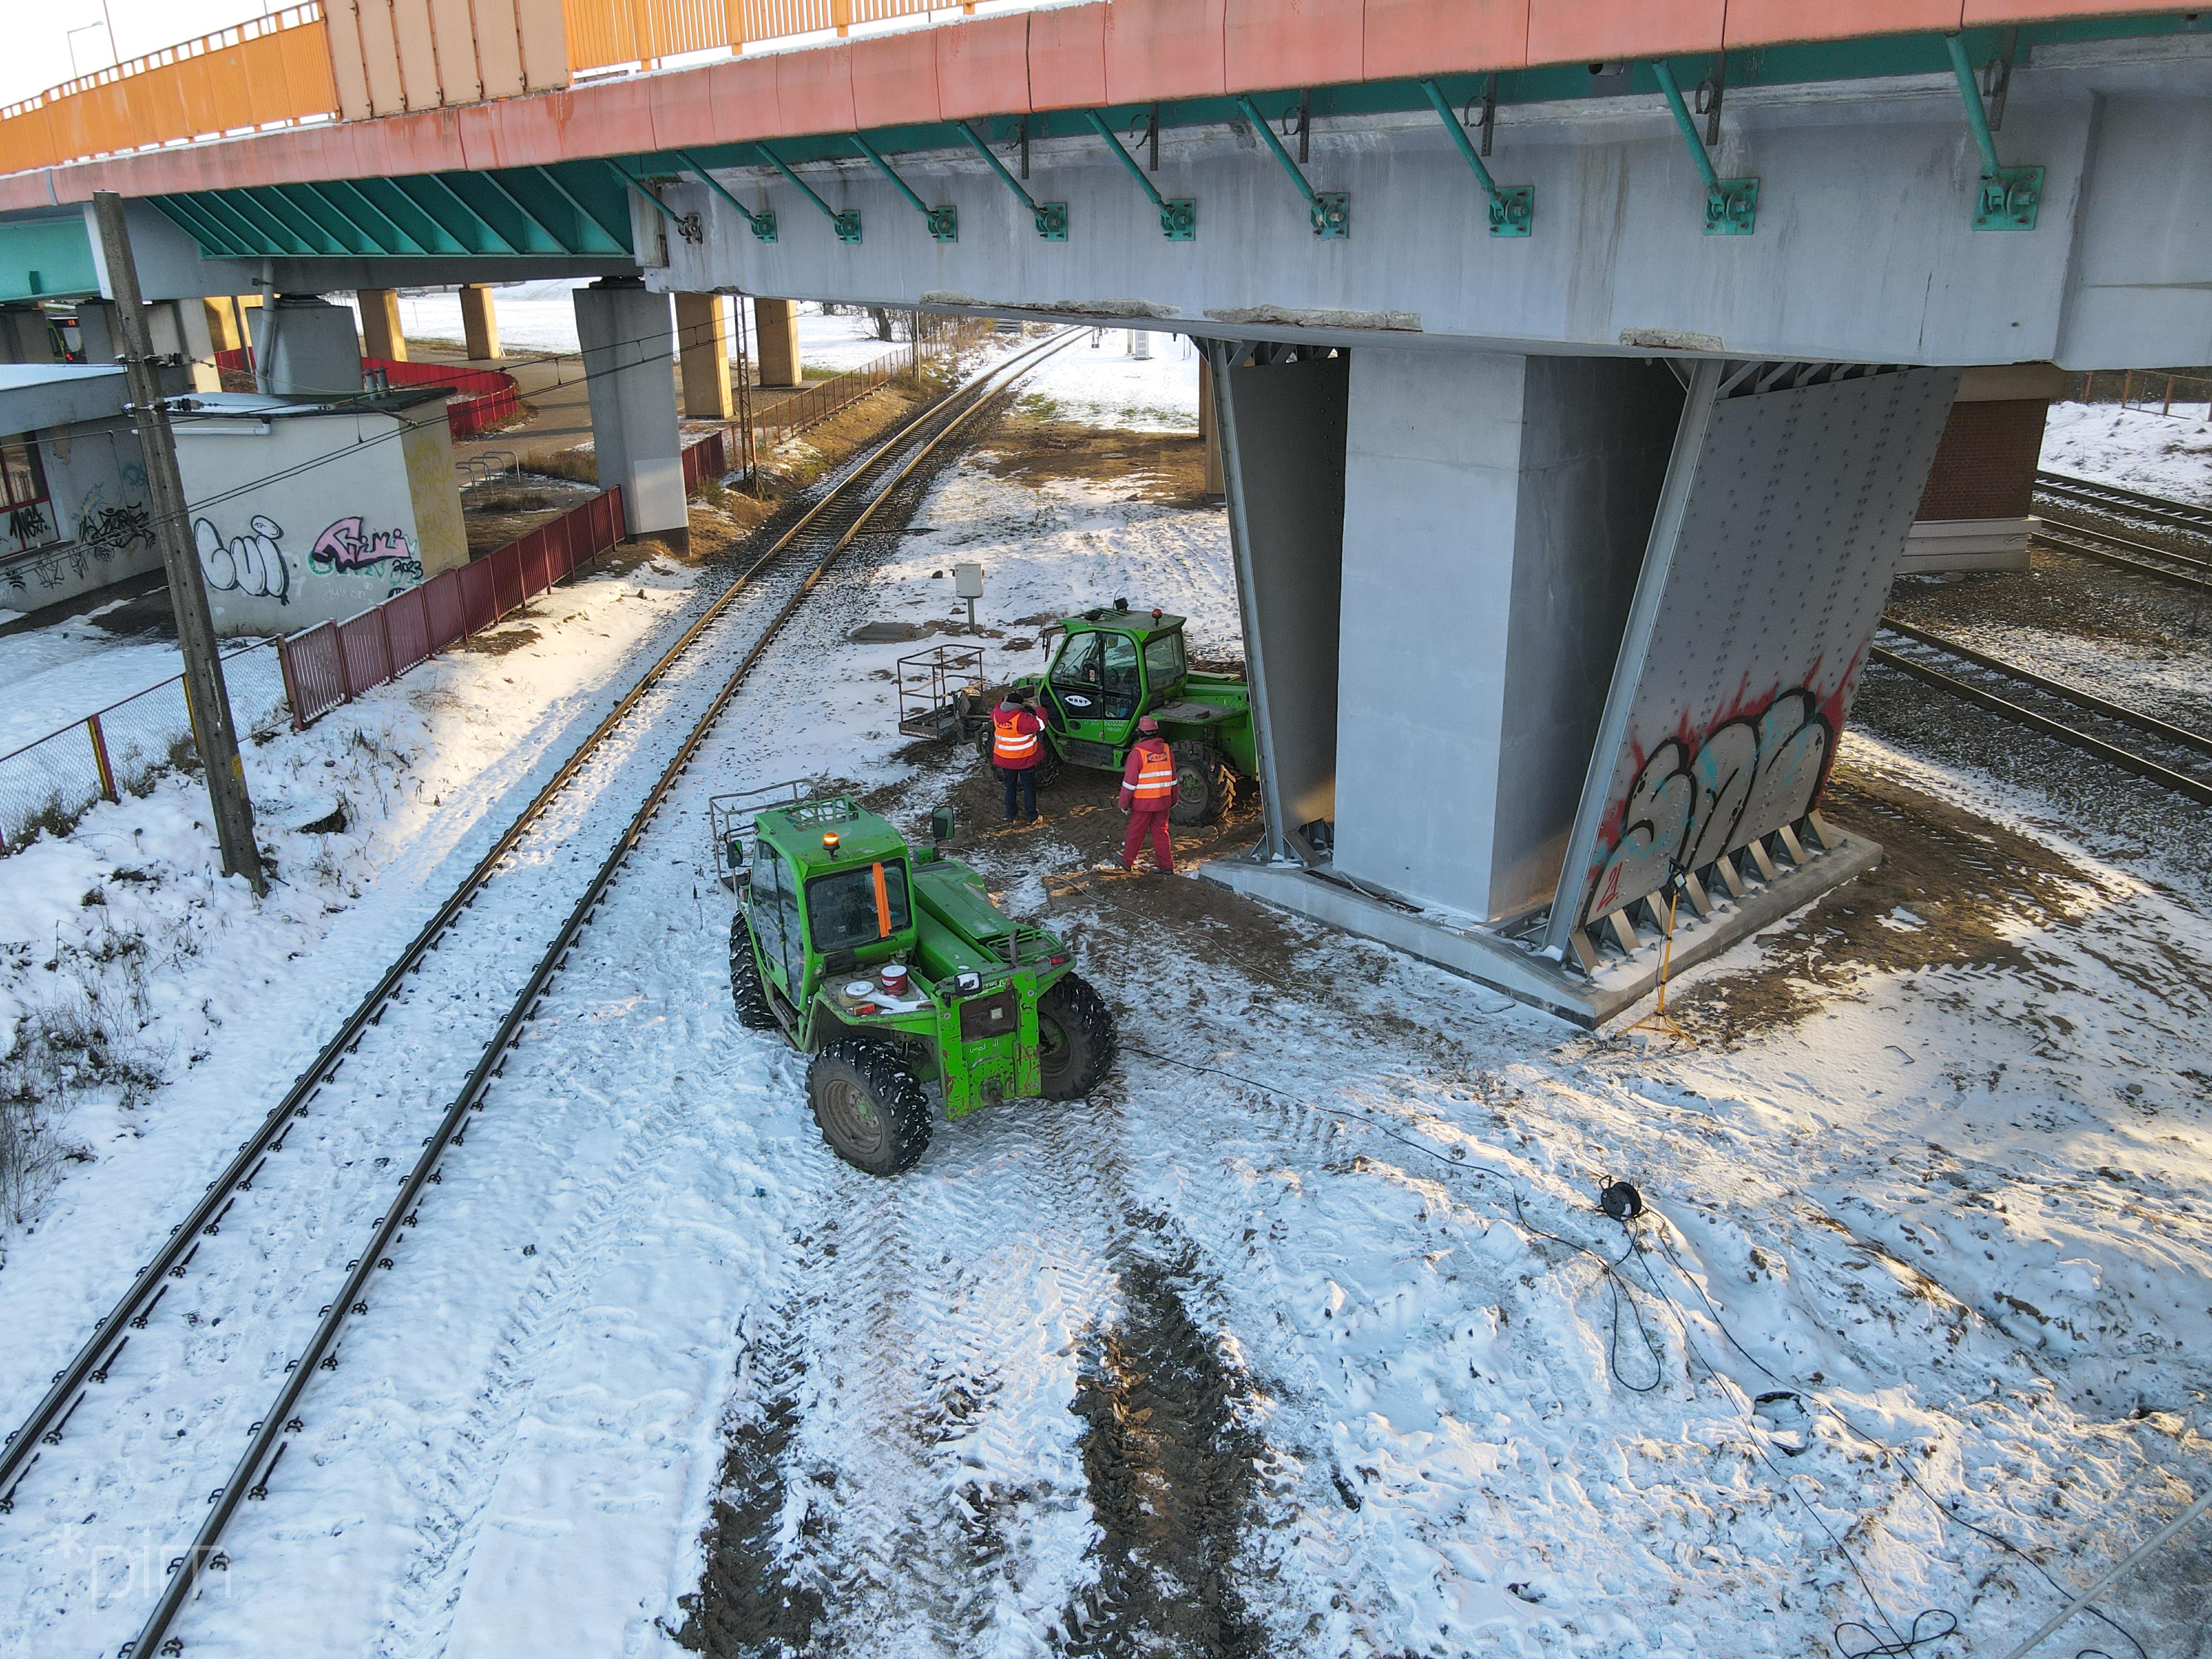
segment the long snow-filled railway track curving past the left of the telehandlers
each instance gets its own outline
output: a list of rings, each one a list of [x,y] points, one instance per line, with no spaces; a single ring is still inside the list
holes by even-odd
[[[0,1449],[0,1513],[15,1509],[27,1480],[55,1447],[97,1442],[95,1425],[106,1420],[115,1427],[113,1420],[126,1416],[104,1409],[100,1396],[119,1407],[161,1398],[173,1409],[175,1378],[215,1378],[215,1400],[204,1413],[217,1420],[217,1444],[234,1444],[243,1436],[246,1449],[228,1480],[206,1495],[206,1520],[186,1553],[170,1562],[153,1613],[124,1652],[175,1650],[170,1626],[201,1575],[223,1564],[221,1537],[239,1504],[268,1491],[288,1436],[301,1429],[301,1396],[319,1369],[336,1369],[347,1321],[369,1307],[372,1276],[394,1265],[389,1252],[416,1225],[416,1203],[440,1181],[442,1157],[462,1144],[469,1115],[484,1106],[546,987],[754,664],[878,509],[953,434],[978,414],[1002,407],[1029,369],[1073,338],[1060,334],[1029,347],[922,411],[854,465],[737,575],[440,902],[9,1436]],[[717,672],[730,661],[734,666],[726,675]],[[684,737],[670,752],[675,732]],[[646,772],[653,774],[650,785],[639,787]],[[586,867],[584,845],[606,845],[608,852]],[[560,918],[551,931],[549,918]],[[522,971],[520,962],[531,967]],[[436,1086],[425,1088],[425,1073],[465,1073],[442,1110],[429,1104]],[[409,1110],[409,1102],[420,1104]],[[294,1157],[279,1157],[285,1150]],[[374,1197],[389,1190],[385,1172],[398,1164],[407,1170],[396,1177],[396,1197]],[[272,1206],[268,1188],[283,1190],[288,1175],[294,1192]],[[257,1190],[261,1197],[252,1197]],[[257,1217],[261,1210],[276,1214]],[[363,1228],[365,1212],[374,1212],[374,1225]],[[250,1296],[265,1329],[254,1336],[263,1338],[265,1352],[290,1352],[292,1358],[274,1400],[248,1425],[237,1378],[217,1376],[219,1363],[197,1363],[188,1352],[190,1338],[177,1329],[197,1321],[157,1323],[157,1316],[173,1285],[208,1265],[199,1261],[204,1250],[237,1254],[237,1237],[254,1239],[257,1225],[285,1248],[261,1239],[261,1263],[248,1259],[230,1263],[230,1270],[246,1281],[259,1274],[261,1287]],[[226,1245],[226,1230],[232,1245]],[[305,1250],[290,1234],[301,1234]],[[343,1279],[336,1272],[338,1252],[347,1250],[341,1239],[363,1239],[345,1261]],[[296,1259],[312,1248],[323,1248],[327,1263]],[[312,1314],[312,1334],[299,1340],[314,1296],[330,1294],[316,1287],[330,1279],[338,1279],[336,1292]],[[133,1340],[137,1354],[128,1352]],[[148,1349],[157,1349],[150,1360]],[[137,1378],[133,1369],[139,1369]],[[252,1398],[254,1385],[246,1383],[243,1394]],[[53,1462],[82,1471],[84,1458],[64,1451]],[[186,1469],[186,1462],[192,1467]],[[195,1473],[206,1473],[204,1458],[175,1460],[168,1484]]]

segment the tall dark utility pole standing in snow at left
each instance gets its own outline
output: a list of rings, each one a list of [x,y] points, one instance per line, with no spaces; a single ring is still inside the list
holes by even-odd
[[[131,376],[131,411],[137,416],[139,447],[146,451],[146,489],[153,493],[155,540],[168,571],[168,602],[177,611],[177,646],[184,653],[184,703],[192,714],[192,741],[208,772],[208,803],[215,807],[215,841],[223,849],[223,874],[246,876],[254,894],[268,894],[261,849],[254,845],[254,803],[246,794],[239,734],[230,723],[230,692],[223,690],[223,659],[215,653],[215,617],[208,588],[192,551],[192,524],[177,473],[177,436],[168,429],[168,405],[155,378],[153,332],[139,299],[137,265],[131,259],[131,228],[124,199],[113,190],[93,192],[100,252],[108,263],[115,296],[115,327],[122,332],[124,372]]]

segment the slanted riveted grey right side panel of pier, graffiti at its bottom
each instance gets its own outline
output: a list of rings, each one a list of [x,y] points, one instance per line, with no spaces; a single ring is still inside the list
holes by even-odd
[[[1646,557],[1619,741],[1593,759],[1559,885],[1575,925],[1818,801],[1958,389],[1958,369],[1725,369],[1743,378],[1714,374],[1670,462],[1679,529]]]

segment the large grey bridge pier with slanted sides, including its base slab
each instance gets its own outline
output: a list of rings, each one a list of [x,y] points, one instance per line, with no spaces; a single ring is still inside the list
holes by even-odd
[[[1210,356],[1267,832],[1208,874],[1595,1024],[1670,896],[1688,967],[1871,863],[1814,807],[1955,369]]]

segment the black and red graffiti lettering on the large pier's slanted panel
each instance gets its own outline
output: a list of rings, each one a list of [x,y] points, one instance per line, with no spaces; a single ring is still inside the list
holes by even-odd
[[[1803,818],[1827,776],[1840,703],[1840,692],[1823,701],[1785,690],[1646,754],[1619,805],[1613,852],[1590,880],[1584,925],[1657,891],[1677,867],[1703,869]]]

